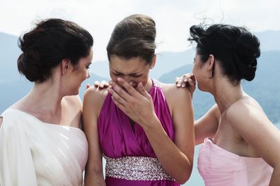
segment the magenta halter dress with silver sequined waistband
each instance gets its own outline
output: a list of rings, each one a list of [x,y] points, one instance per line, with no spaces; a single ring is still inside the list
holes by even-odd
[[[158,119],[174,141],[172,118],[159,82],[153,80],[149,94]],[[115,106],[110,94],[100,111],[98,134],[106,159],[107,186],[179,185],[159,163],[141,126],[135,123],[132,128],[129,117]]]

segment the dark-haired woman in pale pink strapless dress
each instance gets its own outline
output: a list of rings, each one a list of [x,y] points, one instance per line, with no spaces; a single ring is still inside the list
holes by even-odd
[[[194,76],[185,75],[178,85],[190,82],[194,90],[196,79],[216,101],[195,122],[196,144],[204,142],[198,169],[205,185],[280,185],[280,132],[240,83],[255,77],[259,40],[232,25],[194,25],[190,34],[197,43]]]

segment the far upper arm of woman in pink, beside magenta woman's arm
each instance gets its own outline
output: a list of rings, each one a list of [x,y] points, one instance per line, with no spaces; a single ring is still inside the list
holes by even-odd
[[[214,137],[218,129],[220,111],[215,104],[194,123],[195,144],[201,144],[206,137]]]

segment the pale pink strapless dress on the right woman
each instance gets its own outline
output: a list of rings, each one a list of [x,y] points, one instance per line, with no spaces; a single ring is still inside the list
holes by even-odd
[[[205,139],[198,170],[206,186],[266,186],[273,168],[261,158],[238,156]]]

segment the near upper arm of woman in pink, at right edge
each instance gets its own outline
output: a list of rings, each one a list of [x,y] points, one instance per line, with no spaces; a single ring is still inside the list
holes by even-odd
[[[257,103],[235,104],[227,113],[233,128],[274,168],[269,186],[280,185],[280,132]]]

